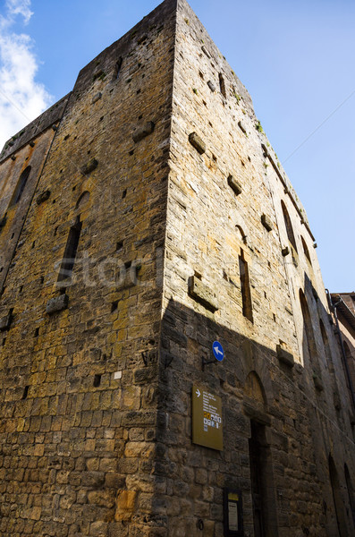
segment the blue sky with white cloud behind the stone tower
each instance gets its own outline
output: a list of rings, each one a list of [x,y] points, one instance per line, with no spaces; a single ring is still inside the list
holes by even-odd
[[[157,4],[0,0],[0,145],[72,90],[80,69]],[[190,5],[249,90],[307,210],[325,286],[353,291],[355,3],[190,0]],[[14,112],[16,103],[24,115]]]

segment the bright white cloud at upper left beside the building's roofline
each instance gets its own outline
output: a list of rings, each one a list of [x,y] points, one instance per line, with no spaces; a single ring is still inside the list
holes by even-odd
[[[6,0],[0,16],[0,150],[4,142],[40,115],[52,98],[36,81],[38,59],[29,35],[14,33],[17,16],[30,21],[30,0]]]

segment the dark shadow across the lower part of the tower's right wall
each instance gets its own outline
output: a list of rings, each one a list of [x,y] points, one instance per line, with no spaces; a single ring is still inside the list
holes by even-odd
[[[318,301],[317,310],[321,309],[322,318],[329,323],[327,312]],[[311,319],[310,323],[313,326]],[[323,345],[317,325],[316,349]],[[303,346],[309,353],[307,330],[305,327]],[[202,359],[213,360],[211,347],[216,340],[224,347],[224,361],[213,362],[203,371]],[[327,418],[328,414],[334,415],[334,408],[326,406],[329,400],[333,405],[333,386],[326,377],[323,388],[317,388],[313,362],[306,362],[305,367],[286,364],[279,360],[275,349],[216,323],[209,311],[204,315],[171,300],[162,322],[161,363],[159,407],[167,416],[167,422],[164,419],[160,428],[160,440],[165,445],[163,474],[179,481],[182,473],[199,466],[207,472],[208,482],[220,490],[215,492],[219,502],[224,487],[241,490],[247,534],[254,528],[256,535],[276,537],[282,528],[300,527],[306,534],[313,534],[322,527],[326,535],[333,536],[337,535],[339,519],[341,537],[351,534],[351,505],[344,493],[343,469],[346,464],[355,470],[353,455],[352,460],[351,455],[344,460],[344,453],[351,453],[353,440]],[[191,442],[194,383],[222,398],[223,451]],[[319,392],[327,396],[320,398]],[[180,465],[176,464],[177,453],[181,454]],[[329,474],[330,453],[341,483],[341,490],[335,493]],[[304,508],[295,513],[298,494],[303,498]],[[188,496],[182,492],[184,499]],[[339,507],[340,497],[348,513]],[[199,507],[196,509],[194,516],[201,516]],[[214,518],[213,509],[210,518]],[[310,520],[314,521],[313,529]],[[183,525],[182,520],[180,524]]]

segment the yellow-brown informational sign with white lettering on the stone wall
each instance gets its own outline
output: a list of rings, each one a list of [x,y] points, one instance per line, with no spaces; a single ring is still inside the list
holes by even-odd
[[[222,399],[197,384],[192,387],[192,442],[223,450]]]

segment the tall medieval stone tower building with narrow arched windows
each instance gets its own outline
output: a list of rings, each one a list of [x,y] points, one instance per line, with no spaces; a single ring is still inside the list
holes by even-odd
[[[1,536],[354,534],[315,240],[185,0],[6,143],[0,188]]]

